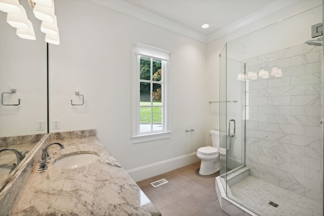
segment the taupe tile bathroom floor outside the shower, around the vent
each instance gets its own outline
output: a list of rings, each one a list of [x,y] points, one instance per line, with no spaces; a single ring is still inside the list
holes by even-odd
[[[137,182],[151,202],[163,216],[227,216],[220,207],[216,190],[216,174],[204,178],[196,173],[200,161]],[[150,183],[166,179],[167,184],[153,187]]]

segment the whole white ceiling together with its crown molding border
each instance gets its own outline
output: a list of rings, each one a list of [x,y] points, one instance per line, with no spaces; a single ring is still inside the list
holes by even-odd
[[[91,0],[193,39],[209,42],[300,0]],[[209,28],[201,25],[208,23]]]

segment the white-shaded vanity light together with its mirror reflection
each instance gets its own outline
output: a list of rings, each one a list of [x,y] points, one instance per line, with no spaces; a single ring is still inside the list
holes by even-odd
[[[57,27],[57,19],[54,13],[54,0],[26,0],[34,16],[42,20],[41,31],[46,33],[45,41],[59,45],[60,38]],[[24,39],[35,40],[35,32],[26,11],[19,0],[0,0],[0,10],[7,14],[7,22],[17,28],[17,35]]]

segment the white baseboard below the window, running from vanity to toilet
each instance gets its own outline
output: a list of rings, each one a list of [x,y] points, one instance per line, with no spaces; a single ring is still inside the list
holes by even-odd
[[[145,166],[130,169],[127,170],[127,173],[132,177],[132,179],[135,182],[138,182],[180,168],[182,166],[189,165],[199,160],[200,159],[197,157],[197,153],[193,152],[190,154],[182,155],[157,163],[152,163]]]

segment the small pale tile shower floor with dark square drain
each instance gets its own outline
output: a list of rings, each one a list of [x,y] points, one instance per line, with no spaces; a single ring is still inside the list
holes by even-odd
[[[236,200],[259,215],[322,215],[321,203],[252,176],[231,186],[230,190]],[[268,204],[270,201],[278,206]]]

